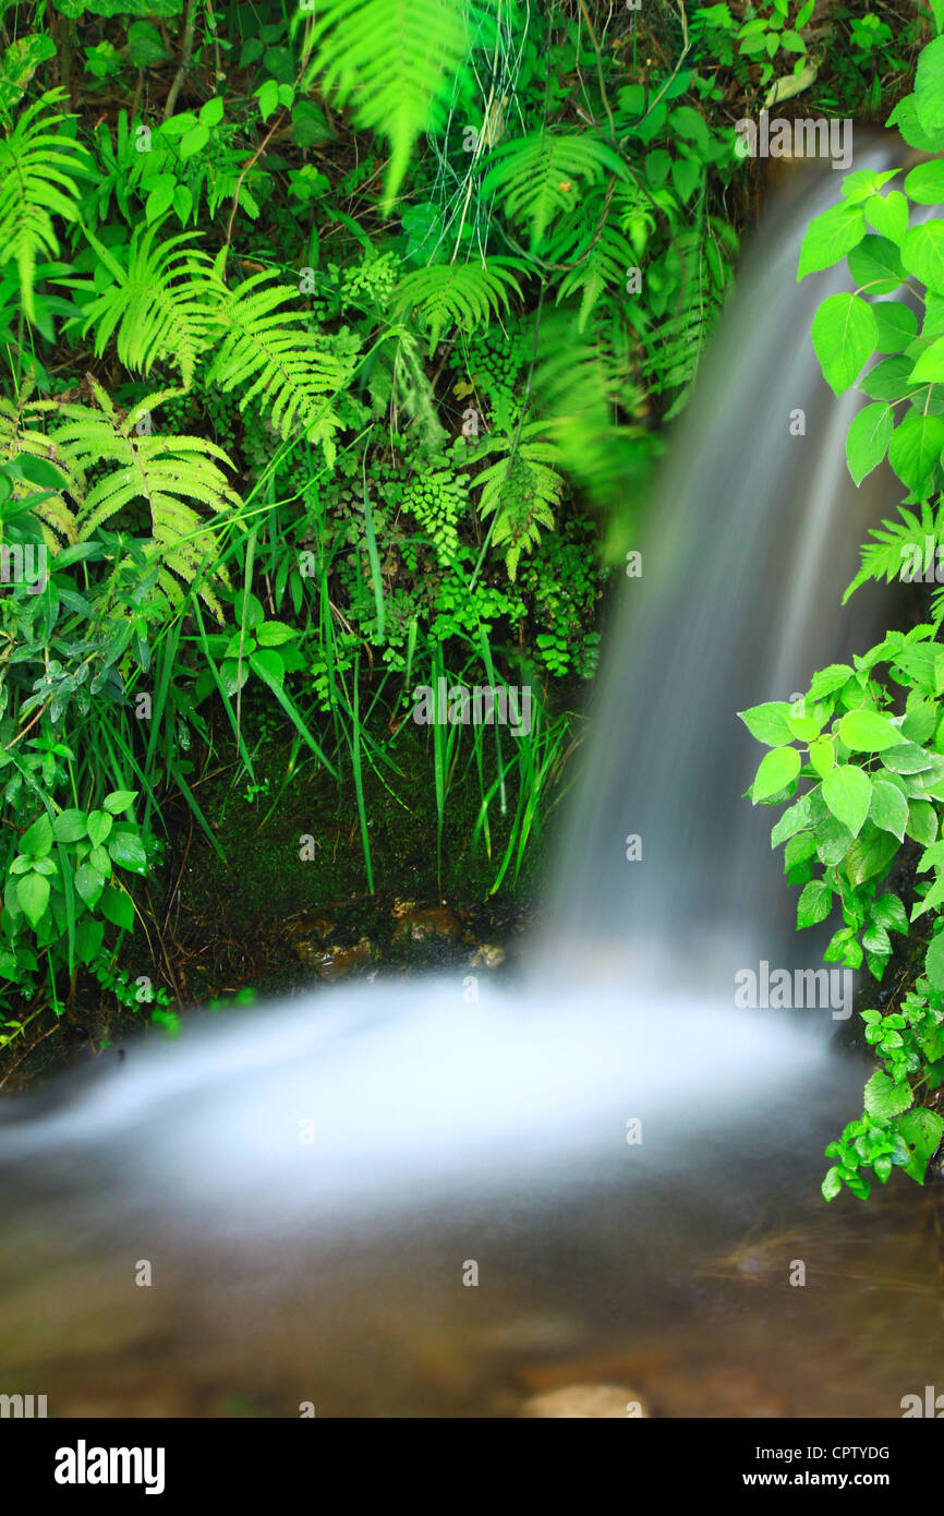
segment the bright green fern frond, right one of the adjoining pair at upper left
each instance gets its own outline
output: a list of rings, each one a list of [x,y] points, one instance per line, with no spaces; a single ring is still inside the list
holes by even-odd
[[[271,423],[283,438],[300,424],[333,462],[338,415],[332,400],[349,384],[356,353],[350,344],[347,350],[330,352],[324,338],[306,327],[309,317],[299,309],[299,291],[271,283],[270,273],[253,274],[235,290],[218,274],[214,279],[223,335],[208,377],[221,390],[247,387],[241,411],[250,400],[265,399]],[[286,309],[288,302],[294,309]]]

